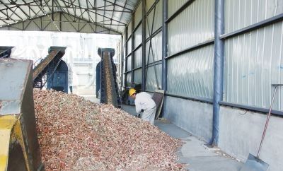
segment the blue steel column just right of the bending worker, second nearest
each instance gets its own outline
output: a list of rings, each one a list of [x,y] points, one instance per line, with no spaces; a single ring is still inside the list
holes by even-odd
[[[167,23],[166,20],[168,18],[168,0],[162,1],[162,89],[164,91],[167,90],[167,42],[168,42],[168,32],[167,32]]]

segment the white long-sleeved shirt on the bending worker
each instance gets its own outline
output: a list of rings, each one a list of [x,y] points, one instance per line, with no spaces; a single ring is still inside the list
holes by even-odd
[[[136,99],[134,100],[134,105],[136,105],[137,113],[140,113],[141,110],[151,110],[156,107],[151,95],[145,92],[137,93]]]

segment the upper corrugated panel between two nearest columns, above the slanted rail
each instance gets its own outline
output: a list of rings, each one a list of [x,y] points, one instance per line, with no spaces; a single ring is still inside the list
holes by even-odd
[[[174,7],[168,6],[168,9]],[[168,23],[168,54],[175,54],[213,38],[214,1],[194,1]]]

